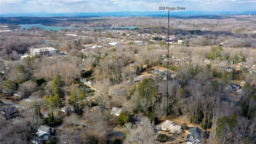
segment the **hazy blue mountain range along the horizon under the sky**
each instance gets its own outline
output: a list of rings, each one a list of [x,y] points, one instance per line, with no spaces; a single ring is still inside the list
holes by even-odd
[[[256,11],[247,12],[202,12],[202,11],[170,11],[170,16],[205,16],[205,15],[254,15]],[[0,14],[0,17],[54,17],[54,16],[167,16],[168,11],[156,12],[70,12],[70,13],[50,13],[50,12],[33,12],[33,13],[6,13]]]

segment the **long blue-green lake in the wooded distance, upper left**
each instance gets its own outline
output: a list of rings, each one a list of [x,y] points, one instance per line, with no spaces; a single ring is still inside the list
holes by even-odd
[[[32,26],[39,26],[41,28],[43,28],[44,30],[57,30],[57,31],[60,31],[60,29],[62,28],[66,28],[66,29],[80,29],[81,27],[78,27],[78,28],[74,28],[74,27],[68,27],[68,26],[45,26],[43,24],[19,24],[19,26],[23,29],[23,28],[26,28],[29,29],[30,27]],[[133,28],[136,28],[136,26],[105,26],[105,27],[86,27],[87,29],[102,29],[102,28],[129,28],[129,29],[133,29]]]

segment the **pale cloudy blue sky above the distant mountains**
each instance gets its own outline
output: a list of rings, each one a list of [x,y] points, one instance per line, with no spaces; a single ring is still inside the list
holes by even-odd
[[[206,12],[256,11],[256,0],[0,0],[0,14],[159,11],[159,6]],[[176,10],[179,11],[179,10]]]

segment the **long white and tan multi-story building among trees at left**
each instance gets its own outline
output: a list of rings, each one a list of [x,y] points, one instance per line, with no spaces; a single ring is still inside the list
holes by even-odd
[[[39,55],[39,56],[52,56],[56,54],[58,51],[56,48],[52,47],[43,47],[43,48],[30,48],[30,54],[32,56]]]

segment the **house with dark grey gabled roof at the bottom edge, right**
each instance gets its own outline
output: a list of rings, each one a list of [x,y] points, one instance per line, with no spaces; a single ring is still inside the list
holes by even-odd
[[[187,144],[201,144],[203,138],[203,131],[200,128],[191,128],[188,131]]]

